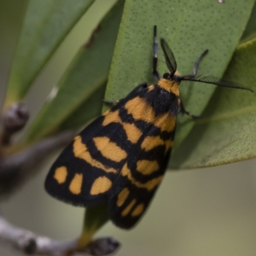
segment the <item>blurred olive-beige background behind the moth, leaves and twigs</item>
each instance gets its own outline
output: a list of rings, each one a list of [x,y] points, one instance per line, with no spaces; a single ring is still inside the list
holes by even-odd
[[[19,36],[24,0],[0,1],[0,102]],[[115,3],[98,0],[76,24],[49,64],[37,77],[26,99],[31,119],[77,49]],[[79,236],[84,209],[51,198],[44,179],[54,157],[41,172],[1,204],[4,216],[22,228],[54,239]],[[112,236],[122,243],[117,253],[173,256],[255,256],[256,172],[255,160],[214,168],[167,172],[150,209],[130,231],[108,223],[97,237]],[[19,255],[0,244],[0,255]]]

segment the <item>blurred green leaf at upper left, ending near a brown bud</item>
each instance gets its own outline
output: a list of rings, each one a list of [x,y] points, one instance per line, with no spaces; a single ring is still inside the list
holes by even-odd
[[[24,99],[31,83],[94,0],[30,0],[8,81],[5,106]]]

